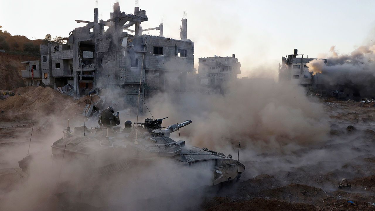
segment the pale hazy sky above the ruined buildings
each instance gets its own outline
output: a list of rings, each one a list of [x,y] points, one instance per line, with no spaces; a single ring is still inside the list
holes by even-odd
[[[84,26],[75,19],[93,21],[95,7],[99,20],[109,19],[115,2],[121,11],[134,13],[135,0],[0,0],[0,26],[29,39],[43,39],[48,33],[66,37],[74,27]],[[138,0],[138,6],[148,17],[143,29],[163,20],[164,36],[174,39],[180,39],[181,19],[187,11],[195,67],[199,57],[236,54],[242,63],[241,76],[267,72],[277,77],[281,57],[294,48],[310,58],[323,57],[332,45],[339,53],[350,53],[375,34],[373,0]]]

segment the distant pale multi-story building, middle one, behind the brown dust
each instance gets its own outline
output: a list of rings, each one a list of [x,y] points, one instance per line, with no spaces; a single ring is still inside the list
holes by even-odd
[[[210,87],[220,87],[231,80],[237,79],[241,74],[241,63],[233,54],[232,57],[206,57],[199,58],[198,73],[201,84]]]

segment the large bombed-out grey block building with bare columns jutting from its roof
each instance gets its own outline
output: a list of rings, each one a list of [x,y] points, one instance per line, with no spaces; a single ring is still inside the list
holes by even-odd
[[[22,77],[33,86],[71,84],[71,94],[76,96],[92,88],[118,89],[129,105],[136,104],[139,84],[141,97],[145,90],[183,92],[187,72],[194,70],[194,43],[187,39],[187,20],[181,21],[181,40],[163,37],[163,24],[142,29],[141,23],[147,20],[146,11],[139,7],[134,14],[125,14],[114,3],[107,21],[99,20],[95,8],[93,21],[75,20],[86,26],[72,30],[64,38],[66,44],[40,45],[40,62],[25,62]],[[132,26],[134,30],[129,29]],[[159,36],[142,35],[148,30],[159,30]],[[30,65],[37,62],[39,69],[31,71]]]

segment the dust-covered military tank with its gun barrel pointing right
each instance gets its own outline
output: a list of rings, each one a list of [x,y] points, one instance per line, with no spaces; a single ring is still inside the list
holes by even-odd
[[[51,146],[52,159],[64,160],[68,165],[80,163],[80,168],[90,175],[87,181],[95,178],[96,183],[102,178],[108,180],[108,176],[129,172],[132,168],[147,167],[151,161],[159,159],[177,163],[177,168],[176,165],[173,166],[175,175],[178,174],[178,166],[187,167],[191,172],[197,173],[204,169],[209,172],[210,177],[204,185],[217,185],[239,179],[245,166],[232,159],[232,155],[188,146],[184,140],[171,139],[171,133],[189,124],[192,124],[191,120],[162,127],[162,119],[145,119],[144,123],[133,124],[130,130],[121,127],[98,127],[91,130],[76,127],[74,132],[71,132],[68,123],[68,127],[63,130],[64,137]],[[83,194],[82,190],[90,190],[89,194],[92,194],[91,187],[85,187],[82,182],[79,184],[82,186],[78,188],[81,189],[79,196]],[[87,184],[90,186],[92,183]],[[77,193],[77,187],[74,189]],[[56,194],[60,199],[64,198],[66,203],[66,197],[69,197],[67,193],[71,190],[71,187],[60,184]],[[90,202],[85,204],[92,202],[92,196],[89,198]],[[82,202],[84,199],[79,200]]]

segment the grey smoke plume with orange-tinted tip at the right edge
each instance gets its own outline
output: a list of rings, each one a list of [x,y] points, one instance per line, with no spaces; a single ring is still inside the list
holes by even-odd
[[[361,46],[350,54],[339,55],[335,47],[332,56],[324,64],[323,60],[313,60],[307,64],[315,77],[315,83],[327,88],[349,87],[362,97],[374,96],[375,87],[375,45]]]

